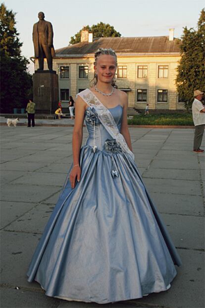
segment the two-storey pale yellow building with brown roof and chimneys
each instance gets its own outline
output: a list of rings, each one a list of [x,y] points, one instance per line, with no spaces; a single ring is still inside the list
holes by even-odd
[[[86,32],[86,31],[85,31]],[[175,86],[180,60],[178,40],[169,36],[100,38],[82,33],[81,43],[55,51],[53,70],[58,74],[59,99],[67,107],[69,96],[88,88],[94,78],[94,54],[112,48],[117,54],[116,84],[128,94],[129,107],[151,110],[183,110]],[[35,61],[35,69],[38,62]],[[45,62],[45,69],[47,64]]]

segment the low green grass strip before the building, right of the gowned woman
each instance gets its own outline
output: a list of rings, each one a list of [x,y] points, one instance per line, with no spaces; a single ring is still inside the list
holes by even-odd
[[[128,119],[129,125],[194,125],[191,114],[140,114]]]

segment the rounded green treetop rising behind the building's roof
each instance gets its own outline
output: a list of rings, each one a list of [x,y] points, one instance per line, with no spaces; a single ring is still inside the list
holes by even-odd
[[[120,37],[121,34],[117,32],[113,26],[110,26],[108,23],[99,22],[97,25],[89,25],[83,27],[79,32],[70,38],[70,44],[76,44],[80,42],[80,36],[82,30],[88,30],[93,33],[93,38],[98,37]]]

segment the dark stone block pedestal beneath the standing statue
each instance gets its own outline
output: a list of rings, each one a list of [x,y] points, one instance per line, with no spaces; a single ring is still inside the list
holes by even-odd
[[[33,101],[36,113],[53,114],[58,105],[58,76],[54,70],[35,70]]]

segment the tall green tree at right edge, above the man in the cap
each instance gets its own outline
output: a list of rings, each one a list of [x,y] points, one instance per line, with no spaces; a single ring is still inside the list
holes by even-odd
[[[197,30],[184,28],[180,54],[176,86],[188,110],[193,102],[194,90],[205,90],[205,9],[201,11]]]

